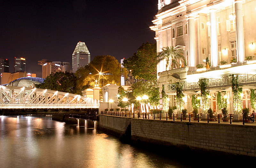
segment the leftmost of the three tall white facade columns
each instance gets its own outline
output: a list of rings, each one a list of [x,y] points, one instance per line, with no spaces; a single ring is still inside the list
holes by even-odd
[[[188,16],[188,54],[189,54],[189,66],[195,67],[195,16]]]

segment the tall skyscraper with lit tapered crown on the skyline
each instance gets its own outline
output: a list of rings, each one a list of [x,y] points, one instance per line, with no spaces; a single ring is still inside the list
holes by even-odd
[[[78,42],[72,54],[72,70],[73,73],[78,68],[88,65],[91,61],[90,52],[84,42]]]

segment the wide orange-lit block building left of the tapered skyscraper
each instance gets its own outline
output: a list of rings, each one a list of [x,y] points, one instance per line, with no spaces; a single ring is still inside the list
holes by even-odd
[[[69,62],[60,62],[60,61],[49,61],[43,59],[37,61],[38,65],[42,65],[42,78],[50,76],[51,73],[55,72],[70,72],[70,63]]]

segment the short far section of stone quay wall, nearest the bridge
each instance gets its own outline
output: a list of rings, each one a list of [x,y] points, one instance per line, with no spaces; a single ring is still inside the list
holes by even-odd
[[[121,116],[108,116],[100,115],[100,121],[98,121],[100,130],[109,132],[116,136],[120,136],[122,132],[125,132],[132,118]]]

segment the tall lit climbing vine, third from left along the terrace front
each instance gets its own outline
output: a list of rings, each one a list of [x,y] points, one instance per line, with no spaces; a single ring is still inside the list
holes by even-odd
[[[208,83],[209,83],[209,79],[207,78],[199,79],[199,86],[200,86],[201,98],[202,98],[202,109],[204,113],[206,112],[207,109],[210,108],[209,99],[207,98],[210,92],[209,90],[206,89]]]

